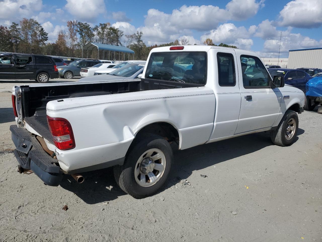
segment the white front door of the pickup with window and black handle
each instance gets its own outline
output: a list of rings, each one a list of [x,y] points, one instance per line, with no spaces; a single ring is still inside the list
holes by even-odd
[[[242,102],[235,134],[267,128],[273,125],[281,103],[279,88],[270,88],[270,75],[255,56],[240,55],[238,61],[239,87]],[[253,66],[253,74],[247,68]],[[254,74],[255,73],[255,74]]]

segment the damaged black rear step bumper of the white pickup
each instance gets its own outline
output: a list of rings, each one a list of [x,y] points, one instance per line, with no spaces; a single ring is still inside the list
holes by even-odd
[[[12,125],[10,131],[19,165],[25,170],[32,170],[45,184],[58,186],[64,175],[58,160],[48,155],[36,137],[26,129]]]

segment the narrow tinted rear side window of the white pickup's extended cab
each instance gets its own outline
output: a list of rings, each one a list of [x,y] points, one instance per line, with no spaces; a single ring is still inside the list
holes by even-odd
[[[218,82],[219,86],[235,86],[234,57],[229,53],[217,53]]]

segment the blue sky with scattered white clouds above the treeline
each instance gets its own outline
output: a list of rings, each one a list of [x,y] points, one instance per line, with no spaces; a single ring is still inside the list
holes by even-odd
[[[289,49],[322,47],[322,0],[2,0],[0,24],[23,17],[38,20],[51,42],[74,19],[92,26],[109,22],[124,34],[142,31],[146,45],[211,38],[275,57],[282,32],[281,57]]]

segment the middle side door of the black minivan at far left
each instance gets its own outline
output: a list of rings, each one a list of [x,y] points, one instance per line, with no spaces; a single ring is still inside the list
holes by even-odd
[[[14,69],[16,79],[35,79],[36,65],[32,55],[15,56]]]

